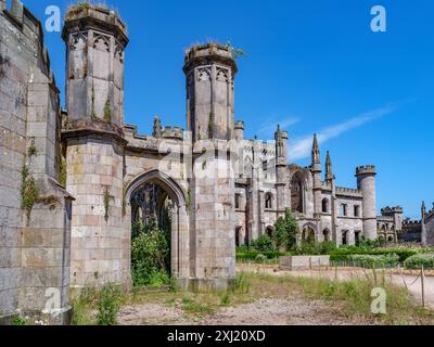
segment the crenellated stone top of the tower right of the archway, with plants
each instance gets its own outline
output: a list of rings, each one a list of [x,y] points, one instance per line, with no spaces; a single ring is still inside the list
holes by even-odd
[[[210,61],[217,61],[221,64],[232,67],[232,73],[237,74],[238,67],[235,63],[235,54],[229,44],[220,44],[208,42],[205,44],[196,44],[186,51],[184,72],[195,64],[209,64]]]

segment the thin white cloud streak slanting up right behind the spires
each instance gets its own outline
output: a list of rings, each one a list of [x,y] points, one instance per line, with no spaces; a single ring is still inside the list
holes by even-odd
[[[354,117],[342,124],[330,126],[317,132],[319,143],[324,143],[331,139],[337,138],[344,132],[352,129],[361,127],[362,125],[386,116],[396,110],[395,106],[386,106],[376,108],[367,113],[363,113],[357,117]],[[293,143],[290,143],[290,159],[299,160],[310,156],[312,145],[312,134],[303,138],[295,139]]]

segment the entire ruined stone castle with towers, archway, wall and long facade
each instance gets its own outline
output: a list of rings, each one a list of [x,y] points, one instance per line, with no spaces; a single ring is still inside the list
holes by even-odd
[[[235,245],[273,232],[290,208],[299,241],[378,237],[375,168],[341,188],[317,138],[311,165],[288,164],[289,133],[244,138],[235,120],[229,46],[186,52],[187,130],[141,136],[124,121],[126,25],[77,5],[63,29],[66,111],[38,20],[0,0],[0,317],[44,312],[64,322],[69,290],[130,286],[131,223],[171,216],[171,272],[188,290],[225,290]],[[322,175],[324,174],[324,176]],[[388,220],[388,219],[387,219]]]

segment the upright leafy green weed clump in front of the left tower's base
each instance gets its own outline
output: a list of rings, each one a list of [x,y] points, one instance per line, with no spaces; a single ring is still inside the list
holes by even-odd
[[[98,324],[99,325],[116,325],[117,312],[120,307],[122,293],[120,290],[113,285],[105,285],[98,303]]]

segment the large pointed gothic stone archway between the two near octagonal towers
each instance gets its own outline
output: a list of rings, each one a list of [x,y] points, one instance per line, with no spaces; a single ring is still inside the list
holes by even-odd
[[[129,230],[129,243],[125,243],[123,247],[125,254],[129,255],[131,252],[133,223],[139,220],[143,223],[155,220],[159,229],[169,233],[171,275],[178,280],[188,279],[190,239],[186,202],[182,188],[159,170],[152,170],[133,179],[125,193],[125,221]]]

